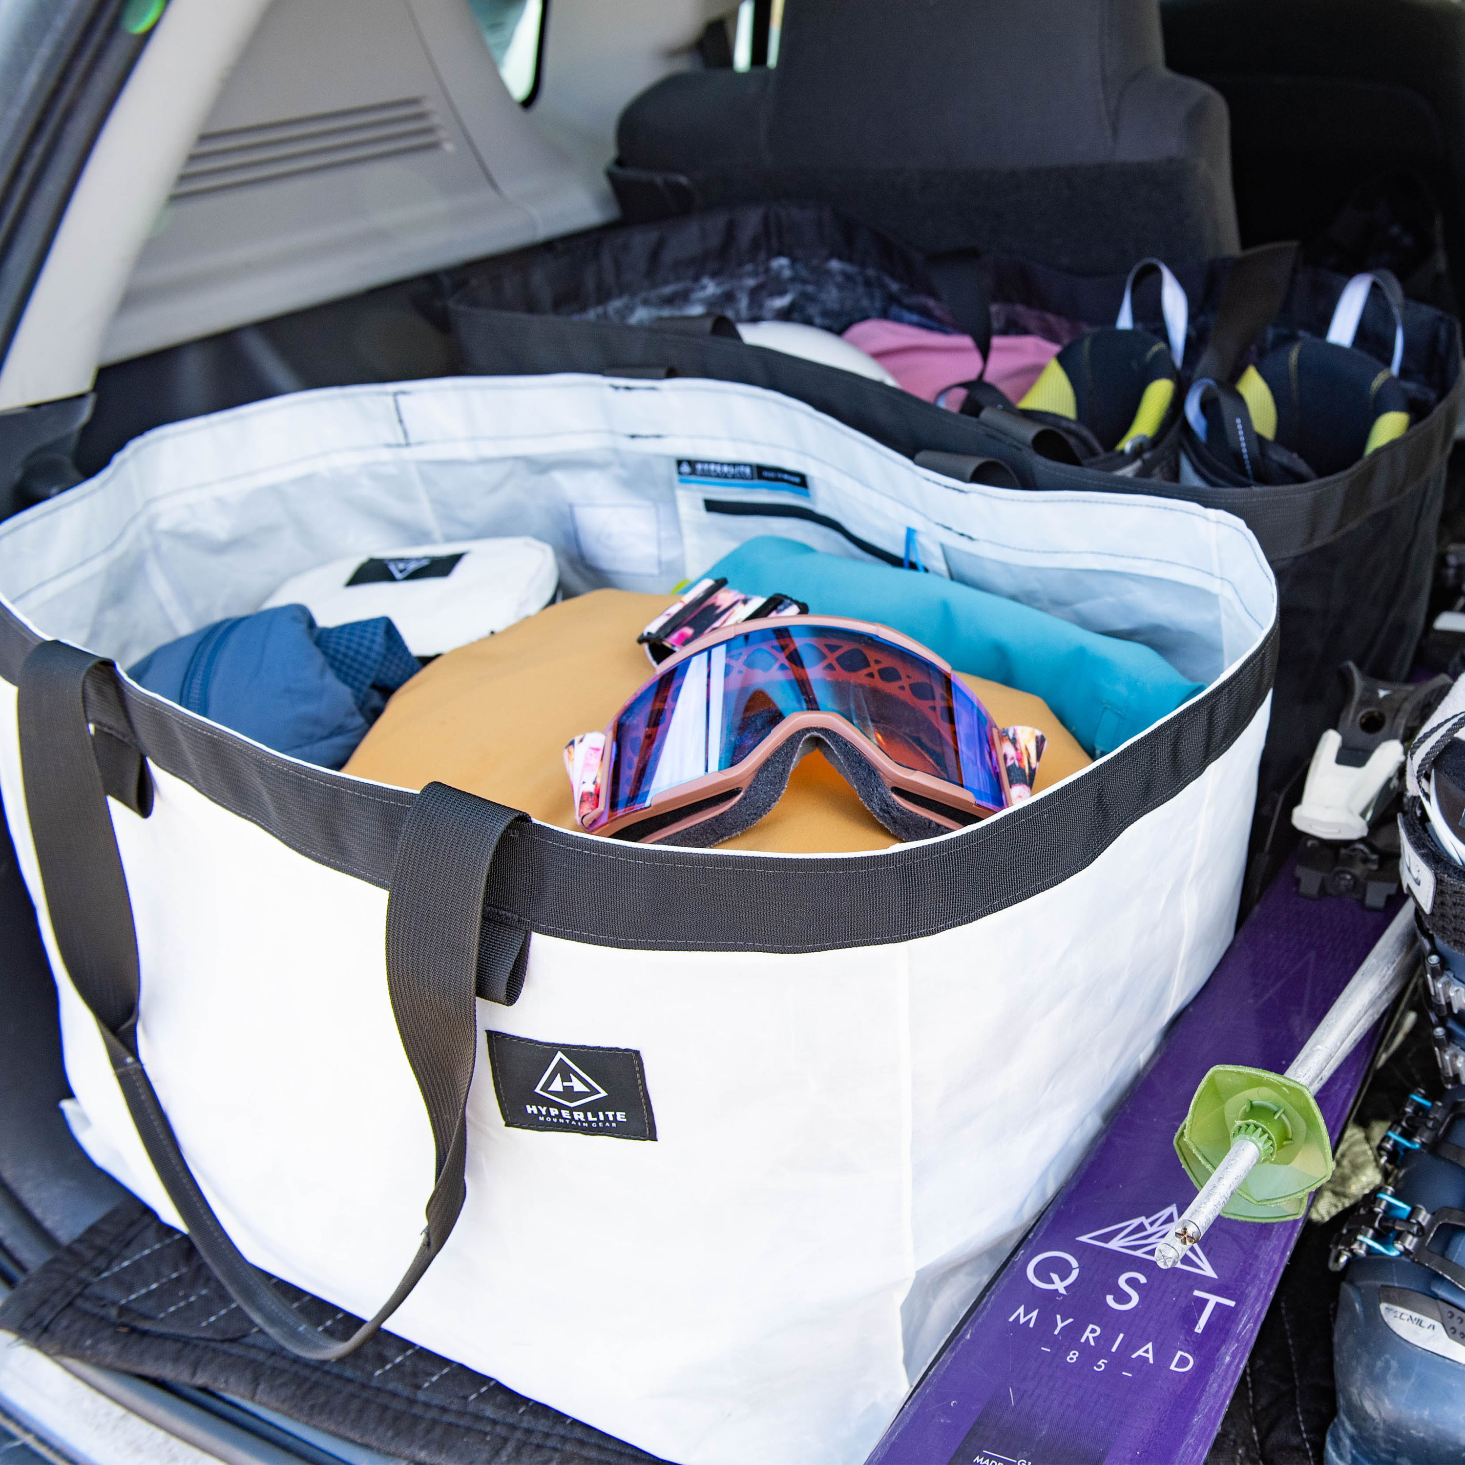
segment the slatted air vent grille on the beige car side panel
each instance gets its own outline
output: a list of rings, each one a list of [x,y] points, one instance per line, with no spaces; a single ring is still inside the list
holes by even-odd
[[[423,97],[226,127],[199,135],[173,186],[173,198],[253,188],[448,145]]]

